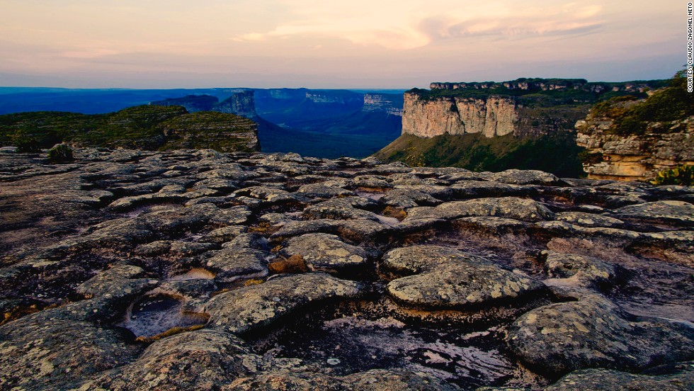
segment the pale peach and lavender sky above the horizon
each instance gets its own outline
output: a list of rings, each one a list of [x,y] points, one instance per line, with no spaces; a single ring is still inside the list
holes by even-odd
[[[0,0],[0,86],[426,88],[666,79],[679,0]]]

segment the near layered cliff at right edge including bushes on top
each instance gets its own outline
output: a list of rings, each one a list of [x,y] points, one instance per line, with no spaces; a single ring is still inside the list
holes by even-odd
[[[681,75],[646,99],[598,103],[576,123],[590,179],[643,181],[659,171],[694,165],[694,100]]]

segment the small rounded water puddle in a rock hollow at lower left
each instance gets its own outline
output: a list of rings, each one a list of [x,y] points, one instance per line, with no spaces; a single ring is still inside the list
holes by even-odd
[[[118,324],[135,336],[156,336],[175,327],[193,327],[207,322],[203,314],[181,312],[183,303],[169,295],[150,295],[132,304],[125,321]]]

